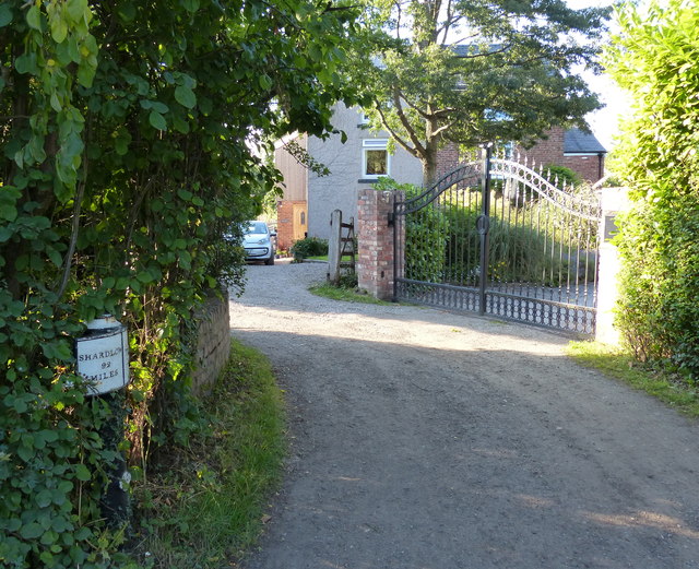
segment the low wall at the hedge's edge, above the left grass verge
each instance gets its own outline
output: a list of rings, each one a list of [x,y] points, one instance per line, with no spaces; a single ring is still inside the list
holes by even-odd
[[[228,295],[212,295],[196,313],[197,346],[192,387],[196,393],[211,390],[228,363],[230,322]]]

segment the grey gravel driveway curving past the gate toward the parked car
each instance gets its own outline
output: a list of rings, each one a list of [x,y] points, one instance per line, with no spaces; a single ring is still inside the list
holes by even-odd
[[[234,336],[292,449],[246,569],[699,568],[699,429],[520,324],[307,292],[249,266]]]

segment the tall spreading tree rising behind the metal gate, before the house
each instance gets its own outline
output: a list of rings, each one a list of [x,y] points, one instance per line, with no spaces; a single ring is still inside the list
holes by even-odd
[[[427,183],[448,142],[526,144],[553,126],[585,128],[601,105],[579,72],[596,69],[608,14],[562,0],[387,0],[354,73],[374,95],[372,125],[419,158]]]

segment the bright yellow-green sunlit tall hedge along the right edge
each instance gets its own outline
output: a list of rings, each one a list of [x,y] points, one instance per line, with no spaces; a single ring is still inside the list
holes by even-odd
[[[635,102],[619,149],[632,211],[617,323],[638,358],[699,380],[699,12],[680,0],[626,7],[609,69]]]

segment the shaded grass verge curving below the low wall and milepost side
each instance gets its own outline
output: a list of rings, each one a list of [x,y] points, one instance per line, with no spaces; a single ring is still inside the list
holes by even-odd
[[[206,432],[173,448],[142,485],[139,552],[154,568],[235,567],[259,537],[281,479],[284,406],[263,355],[234,340],[204,407]]]

